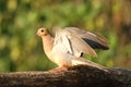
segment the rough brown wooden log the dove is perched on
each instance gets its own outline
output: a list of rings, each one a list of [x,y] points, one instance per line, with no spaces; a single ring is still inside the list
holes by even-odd
[[[131,71],[76,65],[57,72],[0,73],[0,87],[131,87]]]

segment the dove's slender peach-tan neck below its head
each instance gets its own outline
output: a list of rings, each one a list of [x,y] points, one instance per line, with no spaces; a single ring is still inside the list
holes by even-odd
[[[44,47],[44,51],[47,55],[51,52],[52,46],[53,46],[53,37],[52,36],[47,35],[47,36],[43,37],[43,47]]]

